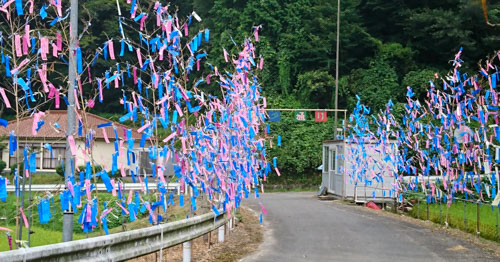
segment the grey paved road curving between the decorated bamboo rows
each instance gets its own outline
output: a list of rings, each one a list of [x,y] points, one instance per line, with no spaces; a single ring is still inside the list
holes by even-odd
[[[242,261],[500,261],[466,241],[314,193],[263,194],[264,243]]]

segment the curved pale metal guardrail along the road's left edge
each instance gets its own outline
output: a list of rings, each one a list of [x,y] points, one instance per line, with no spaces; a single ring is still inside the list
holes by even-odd
[[[207,234],[228,221],[225,213],[200,216],[71,242],[0,252],[0,261],[123,261]]]

